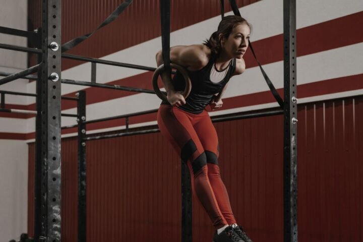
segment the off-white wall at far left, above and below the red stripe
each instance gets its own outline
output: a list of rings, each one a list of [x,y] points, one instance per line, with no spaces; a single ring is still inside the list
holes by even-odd
[[[1,0],[0,25],[27,30],[27,0]],[[24,37],[0,34],[0,43],[26,46]],[[18,72],[27,68],[27,53],[0,49],[0,71]],[[17,80],[0,86],[0,90],[26,92],[26,80]],[[21,104],[26,99],[6,96],[5,103]],[[0,127],[7,130],[6,118]],[[9,119],[9,118],[8,118]],[[14,120],[14,119],[13,119]],[[26,126],[25,119],[19,124]],[[6,131],[4,131],[6,132]],[[0,238],[2,241],[19,240],[27,232],[28,214],[28,145],[25,141],[0,140]]]

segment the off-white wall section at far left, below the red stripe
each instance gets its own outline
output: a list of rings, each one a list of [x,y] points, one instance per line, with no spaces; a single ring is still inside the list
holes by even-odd
[[[27,232],[28,144],[0,140],[0,237],[3,241]]]

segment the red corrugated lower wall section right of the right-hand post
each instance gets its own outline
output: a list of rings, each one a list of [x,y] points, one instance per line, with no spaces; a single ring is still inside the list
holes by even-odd
[[[299,112],[299,237],[362,241],[363,99]],[[303,152],[304,151],[304,152]]]

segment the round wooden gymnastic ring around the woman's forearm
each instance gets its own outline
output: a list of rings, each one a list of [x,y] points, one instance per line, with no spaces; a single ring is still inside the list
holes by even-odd
[[[181,73],[181,75],[183,75],[184,77],[184,80],[186,82],[186,88],[185,90],[183,91],[183,96],[184,98],[187,98],[189,96],[189,93],[190,91],[192,90],[192,83],[191,83],[191,80],[188,76],[188,73],[187,71],[179,66],[179,65],[176,65],[176,64],[173,64],[173,63],[170,63],[170,67],[173,68],[173,69],[176,69],[177,71],[179,71]],[[161,99],[161,100],[164,100],[164,101],[168,101],[167,100],[167,97],[165,94],[163,94],[161,91],[160,91],[160,88],[158,86],[158,83],[157,83],[157,80],[158,80],[158,77],[159,75],[164,71],[164,64],[159,66],[155,72],[154,72],[154,75],[152,77],[152,82],[153,82],[153,88],[154,88],[154,91],[156,93],[156,95]]]

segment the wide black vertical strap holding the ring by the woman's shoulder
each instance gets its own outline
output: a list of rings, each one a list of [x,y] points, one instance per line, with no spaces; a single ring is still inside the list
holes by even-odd
[[[160,0],[161,46],[165,72],[170,69],[170,0]]]

